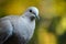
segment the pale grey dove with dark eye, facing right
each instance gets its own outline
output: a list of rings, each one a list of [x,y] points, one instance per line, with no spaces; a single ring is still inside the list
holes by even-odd
[[[26,44],[33,36],[36,20],[40,20],[36,7],[28,8],[21,15],[1,18],[0,44]]]

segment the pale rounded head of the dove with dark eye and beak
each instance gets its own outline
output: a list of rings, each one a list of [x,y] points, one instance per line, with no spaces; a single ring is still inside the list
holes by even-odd
[[[29,16],[32,21],[35,19],[40,19],[38,16],[38,9],[35,7],[30,7],[28,10],[24,12],[25,16]]]

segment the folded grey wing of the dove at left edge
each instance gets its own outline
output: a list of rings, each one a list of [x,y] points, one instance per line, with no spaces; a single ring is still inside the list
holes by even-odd
[[[9,20],[0,20],[0,44],[6,42],[12,35],[12,24]]]

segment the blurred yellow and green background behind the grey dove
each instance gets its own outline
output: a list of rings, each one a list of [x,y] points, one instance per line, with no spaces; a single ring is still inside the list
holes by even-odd
[[[29,44],[66,44],[66,0],[0,0],[0,18],[36,7],[41,20]]]

